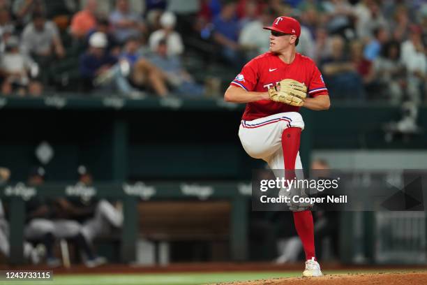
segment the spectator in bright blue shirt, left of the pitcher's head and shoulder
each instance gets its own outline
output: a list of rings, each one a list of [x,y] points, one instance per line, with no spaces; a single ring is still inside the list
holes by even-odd
[[[244,57],[241,56],[239,45],[239,21],[236,17],[237,4],[228,1],[221,8],[221,13],[213,19],[213,39],[220,45],[221,54],[235,68],[241,68]]]

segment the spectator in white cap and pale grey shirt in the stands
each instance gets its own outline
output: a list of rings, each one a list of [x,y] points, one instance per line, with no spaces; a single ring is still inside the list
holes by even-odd
[[[165,12],[160,17],[161,29],[154,31],[149,37],[151,51],[156,52],[160,41],[165,39],[167,45],[167,55],[176,56],[183,53],[184,47],[181,35],[174,31],[177,18],[171,12]]]

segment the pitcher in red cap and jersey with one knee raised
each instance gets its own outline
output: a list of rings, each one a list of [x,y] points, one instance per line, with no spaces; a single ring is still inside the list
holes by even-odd
[[[292,17],[277,17],[271,27],[264,29],[271,31],[269,52],[244,66],[230,83],[224,99],[246,103],[239,127],[239,138],[245,151],[255,159],[266,161],[273,170],[286,170],[288,179],[292,178],[290,174],[295,177],[296,170],[302,169],[299,141],[304,120],[299,109],[327,110],[330,101],[314,61],[295,51],[301,33],[299,22]],[[294,83],[285,86],[283,82],[286,81]],[[299,86],[298,92],[292,90],[295,86]],[[286,90],[291,91],[285,94]],[[278,100],[278,97],[287,100]],[[290,210],[306,254],[303,276],[322,276],[315,257],[310,207],[296,204],[290,205]]]

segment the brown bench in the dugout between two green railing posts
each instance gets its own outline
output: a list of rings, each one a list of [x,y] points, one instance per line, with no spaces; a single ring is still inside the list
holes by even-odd
[[[140,238],[153,242],[153,261],[170,263],[171,242],[208,242],[208,260],[224,261],[230,240],[231,203],[227,200],[140,202]],[[194,251],[197,256],[197,250]]]

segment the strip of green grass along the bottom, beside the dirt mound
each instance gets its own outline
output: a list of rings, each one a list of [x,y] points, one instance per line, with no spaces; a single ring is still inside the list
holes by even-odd
[[[325,274],[402,272],[403,270],[351,270],[326,271]],[[410,270],[414,271],[414,270]],[[0,282],[22,285],[196,285],[215,282],[233,282],[278,277],[300,277],[301,272],[207,272],[207,273],[156,273],[129,275],[57,275],[48,282]]]

